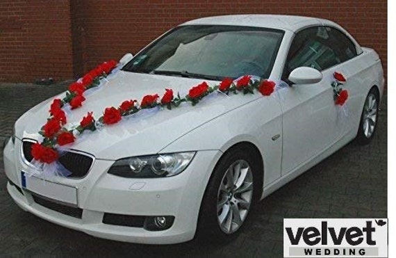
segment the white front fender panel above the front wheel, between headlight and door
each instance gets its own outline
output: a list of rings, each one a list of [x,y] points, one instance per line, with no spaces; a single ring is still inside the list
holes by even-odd
[[[202,124],[174,140],[160,150],[160,153],[201,150],[226,152],[237,143],[249,142],[261,152],[265,186],[281,176],[281,131],[281,104],[278,97],[272,95],[259,98]]]

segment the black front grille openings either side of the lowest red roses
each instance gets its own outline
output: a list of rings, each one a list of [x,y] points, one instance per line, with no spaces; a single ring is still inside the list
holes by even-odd
[[[34,143],[35,142],[33,140],[24,140],[22,142],[22,155],[29,163],[33,160],[31,149]],[[70,178],[85,177],[85,175],[88,174],[93,161],[94,159],[91,156],[72,151],[61,154],[58,159],[58,162],[72,173],[68,176]]]

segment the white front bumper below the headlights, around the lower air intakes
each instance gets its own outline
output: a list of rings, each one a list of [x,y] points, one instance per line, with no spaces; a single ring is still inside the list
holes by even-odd
[[[215,150],[197,152],[185,171],[161,179],[127,179],[108,175],[107,170],[113,161],[97,159],[82,179],[56,178],[57,184],[76,188],[76,209],[82,210],[82,216],[74,218],[38,204],[31,191],[22,188],[21,171],[29,172],[33,168],[26,166],[21,159],[21,143],[18,139],[15,144],[9,141],[4,149],[4,167],[12,182],[7,184],[8,193],[19,207],[45,220],[92,236],[133,243],[168,244],[191,240],[195,235],[206,184],[215,161],[221,155]],[[42,187],[46,187],[45,182]],[[56,193],[54,195],[58,199]],[[143,227],[105,224],[105,213],[174,216],[175,219],[170,229],[148,231]]]

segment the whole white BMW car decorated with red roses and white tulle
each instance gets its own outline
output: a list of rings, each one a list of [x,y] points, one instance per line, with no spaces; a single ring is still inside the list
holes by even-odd
[[[384,85],[338,24],[285,15],[196,19],[114,65],[22,115],[4,166],[25,211],[133,243],[236,236],[255,202],[372,140]]]

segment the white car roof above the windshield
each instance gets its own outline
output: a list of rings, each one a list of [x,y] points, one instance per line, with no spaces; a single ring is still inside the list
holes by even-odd
[[[283,29],[295,32],[306,26],[327,24],[330,21],[293,15],[222,15],[185,22],[182,25],[235,25]]]

